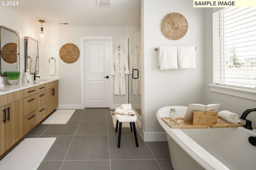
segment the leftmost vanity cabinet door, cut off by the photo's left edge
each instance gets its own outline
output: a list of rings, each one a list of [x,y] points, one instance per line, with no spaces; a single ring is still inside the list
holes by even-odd
[[[1,116],[0,116],[0,155],[2,155],[5,152],[5,137],[4,137],[4,131],[5,131],[5,123],[4,118],[6,118],[4,107],[0,107],[1,110]]]

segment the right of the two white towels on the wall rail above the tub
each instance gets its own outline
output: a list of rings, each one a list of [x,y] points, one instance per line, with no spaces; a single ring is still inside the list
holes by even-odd
[[[178,67],[179,68],[196,68],[195,47],[191,47],[191,46],[178,47]]]

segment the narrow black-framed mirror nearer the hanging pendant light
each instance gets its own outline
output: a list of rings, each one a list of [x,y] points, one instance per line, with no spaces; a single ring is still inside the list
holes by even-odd
[[[25,37],[25,71],[30,74],[38,74],[38,41],[31,37]]]

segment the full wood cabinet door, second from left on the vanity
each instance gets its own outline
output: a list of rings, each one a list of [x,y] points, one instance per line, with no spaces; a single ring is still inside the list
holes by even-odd
[[[5,149],[8,150],[23,136],[23,100],[8,104],[5,123]]]

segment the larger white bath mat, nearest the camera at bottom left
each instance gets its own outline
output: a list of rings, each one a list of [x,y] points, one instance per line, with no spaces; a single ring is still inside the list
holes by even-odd
[[[55,140],[25,138],[0,161],[0,170],[36,170]]]

